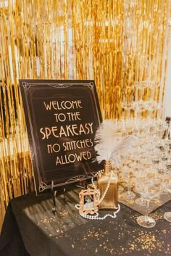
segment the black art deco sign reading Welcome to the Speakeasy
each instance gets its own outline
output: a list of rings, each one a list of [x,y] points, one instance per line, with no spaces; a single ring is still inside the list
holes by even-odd
[[[93,80],[20,80],[36,192],[99,170],[93,139],[101,112]]]

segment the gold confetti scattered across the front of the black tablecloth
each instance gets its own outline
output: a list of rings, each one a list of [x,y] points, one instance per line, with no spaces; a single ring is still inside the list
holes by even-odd
[[[73,236],[75,234],[74,228],[69,229],[69,232],[67,232],[66,226],[64,226],[66,223],[62,222],[61,228],[57,223],[56,238],[67,237],[73,251],[77,249],[81,252],[88,249],[88,252],[92,252],[94,255],[98,255],[101,252],[115,256],[131,255],[133,252],[134,254],[135,252],[140,252],[143,256],[151,256],[156,252],[157,255],[160,255],[160,252],[162,256],[169,255],[170,244],[166,243],[166,239],[170,236],[170,231],[165,228],[157,229],[157,227],[153,230],[144,230],[136,223],[138,215],[132,210],[126,210],[126,218],[122,223],[115,225],[115,220],[109,219],[107,228],[104,228],[101,221],[93,224],[88,220],[80,228],[77,226],[77,236]],[[153,212],[153,216],[159,222],[163,221],[162,209]],[[45,223],[47,220],[48,218],[46,217]],[[135,222],[135,228],[132,225],[133,222]],[[48,228],[47,223],[46,226]],[[78,244],[80,244],[79,248]]]

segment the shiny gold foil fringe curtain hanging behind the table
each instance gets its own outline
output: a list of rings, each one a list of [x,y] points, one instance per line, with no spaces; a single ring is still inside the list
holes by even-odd
[[[170,0],[0,0],[0,210],[33,191],[18,79],[93,79],[120,118],[148,75],[162,103],[169,17]]]

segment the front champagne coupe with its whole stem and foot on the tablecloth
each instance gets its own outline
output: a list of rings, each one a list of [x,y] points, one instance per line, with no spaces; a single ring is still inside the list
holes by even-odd
[[[137,223],[144,228],[152,228],[156,225],[156,221],[149,217],[149,204],[151,199],[155,199],[162,192],[161,180],[152,173],[145,178],[137,178],[135,187],[143,199],[146,200],[146,213],[137,218]]]

